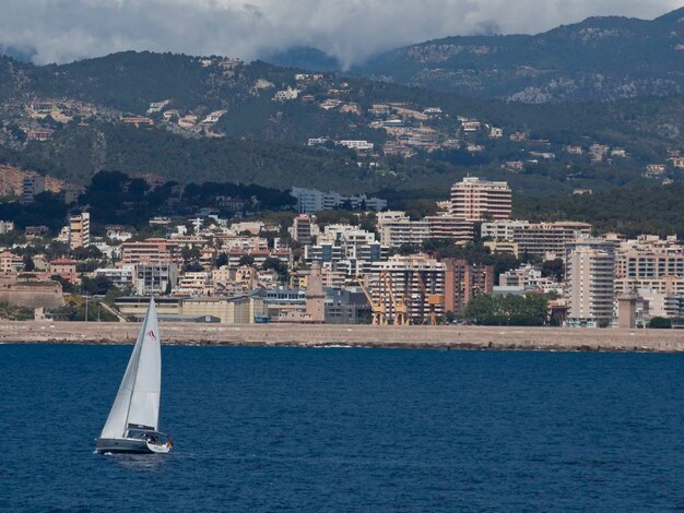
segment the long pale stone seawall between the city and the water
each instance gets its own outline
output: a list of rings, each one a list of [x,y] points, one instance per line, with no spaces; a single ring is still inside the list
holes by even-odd
[[[138,323],[0,322],[3,343],[132,344]],[[166,344],[684,351],[684,330],[161,323]]]

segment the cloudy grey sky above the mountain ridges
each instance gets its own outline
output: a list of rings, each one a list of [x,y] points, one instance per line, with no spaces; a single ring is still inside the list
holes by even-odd
[[[1,0],[0,44],[37,63],[120,50],[251,60],[315,46],[351,64],[451,35],[539,33],[592,15],[652,19],[684,0]]]

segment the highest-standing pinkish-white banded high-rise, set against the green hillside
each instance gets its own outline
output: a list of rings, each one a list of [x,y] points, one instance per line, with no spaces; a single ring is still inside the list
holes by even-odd
[[[510,188],[505,181],[465,177],[451,187],[451,214],[461,219],[507,219],[511,205]]]

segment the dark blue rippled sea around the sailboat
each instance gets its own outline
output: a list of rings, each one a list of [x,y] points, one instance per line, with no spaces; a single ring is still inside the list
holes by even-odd
[[[684,356],[164,347],[168,456],[101,456],[131,347],[0,346],[0,509],[684,509]]]

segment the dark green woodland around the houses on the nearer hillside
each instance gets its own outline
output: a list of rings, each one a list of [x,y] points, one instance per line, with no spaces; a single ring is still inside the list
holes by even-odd
[[[217,65],[202,67],[194,57],[150,52],[122,52],[48,67],[0,57],[1,77],[7,80],[0,99],[4,95],[13,102],[27,97],[74,98],[107,112],[90,119],[87,126],[79,126],[76,119],[67,124],[43,120],[43,124],[55,129],[54,140],[48,142],[24,143],[16,120],[9,120],[0,162],[80,183],[87,183],[99,170],[116,169],[131,175],[158,174],[181,183],[231,181],[278,189],[295,184],[340,192],[397,190],[401,191],[397,195],[400,203],[445,198],[449,184],[470,172],[507,179],[526,195],[543,195],[574,188],[601,190],[646,183],[641,177],[644,166],[662,162],[668,148],[684,143],[682,95],[598,104],[522,105],[333,74],[327,74],[321,83],[303,85],[294,81],[294,70],[263,62],[224,73]],[[268,81],[272,86],[255,88],[257,81]],[[342,82],[349,86],[342,87]],[[302,100],[271,100],[275,90],[287,86],[303,88],[302,93],[316,102],[329,97],[329,88],[337,88],[334,96],[357,105],[358,112],[325,110]],[[214,109],[227,110],[212,128],[215,134],[226,136],[173,133],[177,129],[160,128],[158,115],[152,115],[157,116],[157,126],[151,129],[103,120],[127,111],[142,115],[151,102],[162,99],[170,100],[168,108],[200,118]],[[460,150],[418,153],[409,159],[384,155],[368,158],[332,145],[305,146],[308,138],[319,136],[382,143],[388,135],[384,130],[368,128],[375,118],[367,109],[390,102],[418,110],[439,106],[444,114],[431,123],[444,133],[452,133],[459,124],[457,118],[465,116],[500,127],[507,134],[528,132],[530,139],[549,140],[550,145],[535,147],[508,138],[487,140],[482,131],[473,138],[474,142],[486,143],[486,151],[476,157]],[[586,150],[592,142],[624,147],[629,157],[590,165],[587,156],[570,157],[563,150],[566,144]],[[520,174],[502,169],[507,160],[530,159],[532,150],[554,152],[557,158],[528,163]],[[372,160],[374,167],[369,166]],[[408,191],[418,192],[402,195]],[[416,213],[429,208],[415,206]]]

